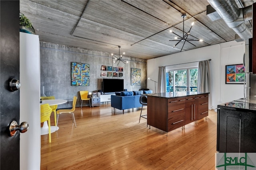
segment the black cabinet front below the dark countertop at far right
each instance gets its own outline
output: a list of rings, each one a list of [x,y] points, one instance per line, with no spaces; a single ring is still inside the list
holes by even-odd
[[[256,113],[219,108],[217,114],[217,151],[256,152]]]

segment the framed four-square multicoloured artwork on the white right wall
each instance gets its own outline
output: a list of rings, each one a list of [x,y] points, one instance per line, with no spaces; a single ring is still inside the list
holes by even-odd
[[[243,64],[226,65],[226,84],[244,84],[245,68]]]

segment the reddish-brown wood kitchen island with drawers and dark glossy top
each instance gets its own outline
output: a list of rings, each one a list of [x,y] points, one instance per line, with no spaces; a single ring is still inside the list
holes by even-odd
[[[191,91],[148,94],[148,125],[166,132],[208,116],[208,94]]]

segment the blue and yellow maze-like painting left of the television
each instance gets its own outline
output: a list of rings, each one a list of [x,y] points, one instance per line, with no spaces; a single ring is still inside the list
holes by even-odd
[[[72,63],[71,66],[71,85],[89,86],[90,65],[83,63]]]

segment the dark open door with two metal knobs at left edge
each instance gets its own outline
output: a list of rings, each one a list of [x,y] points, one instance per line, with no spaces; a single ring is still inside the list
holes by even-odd
[[[20,120],[20,91],[8,90],[10,78],[19,79],[20,70],[20,2],[0,0],[0,169],[20,169],[20,132],[9,136],[9,124]]]

